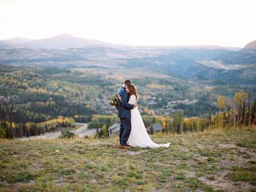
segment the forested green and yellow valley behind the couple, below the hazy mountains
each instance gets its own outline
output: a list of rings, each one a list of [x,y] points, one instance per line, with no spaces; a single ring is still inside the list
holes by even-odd
[[[138,69],[118,69],[118,74],[115,74],[111,68],[94,70],[1,65],[0,120],[5,130],[4,135],[11,138],[33,136],[54,130],[61,125],[70,127],[70,122],[93,121],[92,115],[115,116],[116,110],[109,106],[109,100],[122,85],[125,77],[131,77],[138,88],[139,108],[147,127],[155,122],[167,124],[170,121],[168,118],[184,119],[197,116],[200,127],[194,126],[193,129],[202,130],[211,123],[204,119],[209,120],[211,114],[219,111],[218,96],[223,95],[225,98],[226,111],[228,108],[233,110],[233,97],[242,90],[239,86],[219,81],[183,79],[147,68],[143,69],[146,73],[142,75]],[[250,94],[250,102],[248,97],[239,102],[246,102],[252,111],[255,89],[245,87],[243,90]],[[237,108],[241,111],[239,113],[243,113],[242,108]],[[68,120],[60,122],[60,119],[65,118]],[[101,128],[102,125],[110,126],[113,122],[118,120],[92,125]],[[171,124],[173,122],[168,123],[170,126]],[[180,132],[181,129],[186,131],[186,124],[183,125],[178,120],[172,129],[173,132]]]

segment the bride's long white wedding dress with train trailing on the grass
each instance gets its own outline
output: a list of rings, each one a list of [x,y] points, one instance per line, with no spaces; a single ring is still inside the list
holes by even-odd
[[[129,104],[135,104],[136,96],[131,95],[129,99]],[[143,123],[143,120],[140,115],[140,111],[138,107],[131,109],[131,133],[128,138],[128,143],[131,147],[150,147],[150,148],[157,148],[157,147],[169,147],[170,143],[166,144],[157,144],[154,143],[150,137],[148,136],[147,130]]]

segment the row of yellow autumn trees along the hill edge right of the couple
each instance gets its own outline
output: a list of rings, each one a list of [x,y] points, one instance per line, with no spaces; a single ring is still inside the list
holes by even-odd
[[[204,129],[215,129],[222,127],[236,127],[256,125],[256,100],[250,98],[246,92],[237,92],[232,99],[222,95],[217,97],[218,114],[209,114],[202,117],[184,118],[182,111],[175,111],[171,116],[143,117],[145,125],[148,122],[161,122],[164,132],[198,132]],[[147,127],[147,126],[146,126]]]

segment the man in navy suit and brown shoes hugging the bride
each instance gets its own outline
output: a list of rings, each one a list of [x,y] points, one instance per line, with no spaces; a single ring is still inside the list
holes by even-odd
[[[125,90],[125,85],[132,83],[131,79],[126,79],[124,85],[121,86],[116,92],[116,95],[120,95],[122,100],[118,100],[118,117],[120,118],[120,131],[119,131],[119,140],[120,148],[131,148],[127,145],[127,140],[131,132],[131,109],[137,106],[137,103],[132,105],[129,104],[129,94]]]

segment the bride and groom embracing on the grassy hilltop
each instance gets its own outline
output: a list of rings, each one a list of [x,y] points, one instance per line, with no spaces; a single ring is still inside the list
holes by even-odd
[[[120,148],[169,147],[170,143],[157,144],[148,136],[138,110],[138,94],[131,79],[126,79],[116,93],[118,95],[118,117],[120,118]]]

